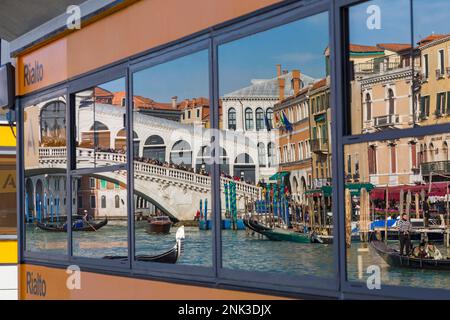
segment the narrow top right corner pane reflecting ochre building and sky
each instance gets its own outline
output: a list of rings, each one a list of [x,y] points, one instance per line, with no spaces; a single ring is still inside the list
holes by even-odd
[[[419,124],[450,121],[450,3],[413,0],[418,68]]]

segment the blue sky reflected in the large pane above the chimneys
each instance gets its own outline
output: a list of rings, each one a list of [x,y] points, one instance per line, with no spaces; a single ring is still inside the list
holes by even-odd
[[[323,78],[328,39],[328,13],[321,13],[220,46],[220,95],[250,85],[251,79],[276,77],[277,64]]]

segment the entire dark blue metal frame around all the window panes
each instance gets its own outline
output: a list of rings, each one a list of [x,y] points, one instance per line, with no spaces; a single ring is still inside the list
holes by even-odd
[[[287,0],[260,9],[243,17],[213,26],[207,30],[197,32],[177,41],[158,46],[148,51],[136,54],[129,58],[121,59],[107,66],[98,68],[91,72],[73,77],[67,81],[49,86],[42,90],[33,92],[16,99],[17,116],[17,186],[18,212],[23,212],[24,199],[24,154],[23,154],[23,108],[33,101],[48,99],[59,96],[61,92],[66,95],[68,105],[74,106],[73,94],[97,84],[114,80],[117,74],[125,77],[127,92],[127,158],[125,165],[127,170],[128,189],[133,190],[133,148],[131,147],[133,110],[132,74],[139,68],[148,68],[160,63],[169,62],[173,59],[197,52],[208,50],[209,63],[209,95],[211,103],[211,127],[219,127],[219,46],[230,41],[250,36],[252,34],[269,30],[289,22],[298,21],[321,12],[329,15],[329,46],[330,46],[330,76],[331,76],[331,108],[332,118],[332,158],[333,173],[333,198],[344,198],[344,146],[349,144],[376,141],[390,138],[404,138],[410,136],[421,136],[425,134],[439,134],[450,132],[450,124],[434,125],[429,127],[416,127],[411,129],[396,130],[391,132],[378,132],[370,135],[345,135],[345,109],[347,96],[345,82],[346,74],[346,45],[348,44],[348,23],[345,10],[348,6],[366,2],[365,0]],[[413,3],[413,0],[410,0]],[[412,15],[412,11],[411,11]],[[411,18],[411,21],[413,19]],[[413,28],[413,23],[411,23]],[[117,78],[116,78],[117,79]],[[67,119],[71,119],[71,108],[67,108]],[[71,130],[68,130],[71,132]],[[68,144],[72,146],[73,136],[68,134]],[[212,147],[219,146],[219,140],[212,142]],[[219,153],[215,153],[219,156]],[[72,194],[72,183],[69,179],[74,172],[94,173],[97,170],[69,170],[73,165],[72,152],[68,152],[68,170],[66,171],[66,190]],[[449,292],[444,289],[428,289],[420,287],[404,287],[382,285],[382,290],[368,290],[361,287],[361,283],[347,280],[346,247],[345,247],[345,208],[342,201],[333,201],[332,209],[337,218],[334,219],[334,243],[333,243],[333,267],[334,273],[331,278],[317,278],[305,275],[280,275],[265,272],[252,272],[243,270],[231,270],[223,268],[222,265],[222,243],[221,243],[221,214],[220,198],[216,191],[220,190],[220,171],[216,161],[212,167],[212,208],[214,209],[214,231],[212,236],[212,267],[200,266],[169,266],[160,263],[136,263],[134,261],[135,238],[134,218],[132,215],[133,192],[127,192],[127,215],[128,215],[128,263],[117,265],[112,261],[102,261],[95,258],[73,257],[72,255],[72,231],[68,232],[68,255],[45,255],[41,253],[24,252],[24,217],[18,214],[18,239],[19,239],[19,263],[38,264],[49,267],[64,268],[74,262],[78,263],[82,270],[114,274],[124,277],[142,278],[149,280],[160,280],[175,283],[186,283],[192,285],[206,286],[212,288],[223,288],[260,292],[265,294],[283,295],[292,297],[330,297],[330,298],[448,298]],[[120,166],[123,168],[124,166]],[[97,171],[98,172],[98,171]],[[219,200],[219,201],[218,201]],[[67,201],[68,212],[71,213],[72,201]],[[68,215],[71,220],[71,214]],[[70,221],[71,222],[71,221]]]

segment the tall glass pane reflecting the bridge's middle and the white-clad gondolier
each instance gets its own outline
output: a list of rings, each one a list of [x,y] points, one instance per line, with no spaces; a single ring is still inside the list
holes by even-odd
[[[133,130],[143,141],[134,150],[135,259],[211,266],[208,52],[134,73],[133,90]]]

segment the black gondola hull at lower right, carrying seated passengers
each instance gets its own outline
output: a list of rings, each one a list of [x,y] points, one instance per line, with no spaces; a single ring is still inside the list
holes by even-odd
[[[450,259],[434,260],[401,256],[398,250],[378,240],[372,241],[370,245],[391,267],[450,271]]]

